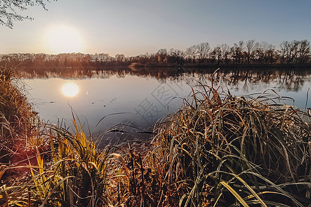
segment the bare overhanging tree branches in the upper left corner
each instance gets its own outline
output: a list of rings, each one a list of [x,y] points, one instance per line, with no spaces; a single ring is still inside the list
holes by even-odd
[[[41,6],[46,9],[45,1],[50,0],[1,0],[0,1],[0,24],[13,28],[13,21],[32,20],[32,17],[23,16],[18,12],[28,10],[31,6]]]

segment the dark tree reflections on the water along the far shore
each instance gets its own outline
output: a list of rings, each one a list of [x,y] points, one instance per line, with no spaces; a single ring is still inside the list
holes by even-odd
[[[216,69],[216,68],[215,68]],[[153,77],[159,81],[211,81],[215,70],[203,68],[186,68],[186,70],[176,70],[176,68],[24,68],[21,70],[21,77],[26,79],[109,79],[114,75],[124,78],[126,75],[137,77]],[[199,77],[193,79],[193,76]],[[218,70],[214,75],[214,83],[225,82],[227,86],[240,87],[238,90],[247,92],[258,84],[274,83],[275,88],[285,88],[288,91],[298,92],[305,81],[310,81],[311,70],[299,69],[289,70],[288,68],[247,68],[234,70]],[[243,84],[241,84],[243,83]]]

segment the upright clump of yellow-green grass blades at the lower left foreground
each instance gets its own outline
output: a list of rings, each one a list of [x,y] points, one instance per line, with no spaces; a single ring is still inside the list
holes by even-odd
[[[109,204],[105,197],[107,178],[106,151],[96,152],[73,117],[76,133],[63,128],[50,132],[50,167],[44,168],[39,152],[39,171],[32,171],[32,195],[41,206],[101,206]]]

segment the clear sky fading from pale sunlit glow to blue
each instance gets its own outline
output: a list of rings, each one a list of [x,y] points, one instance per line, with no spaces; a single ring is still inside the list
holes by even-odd
[[[21,12],[33,21],[0,26],[0,54],[108,53],[135,56],[160,48],[213,48],[240,40],[311,41],[309,0],[58,0]]]

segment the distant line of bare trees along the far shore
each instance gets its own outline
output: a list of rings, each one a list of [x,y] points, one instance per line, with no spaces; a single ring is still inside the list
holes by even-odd
[[[106,53],[94,55],[82,53],[62,53],[59,55],[18,53],[0,55],[0,66],[23,67],[81,67],[81,66],[173,66],[185,63],[188,66],[209,64],[248,65],[248,64],[305,64],[311,63],[310,42],[283,41],[280,49],[267,42],[254,40],[238,41],[233,46],[221,44],[211,48],[208,42],[191,46],[185,51],[171,48],[160,49],[154,54],[125,57],[117,54],[111,57]]]

